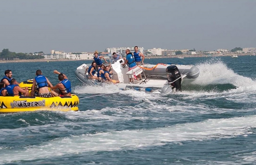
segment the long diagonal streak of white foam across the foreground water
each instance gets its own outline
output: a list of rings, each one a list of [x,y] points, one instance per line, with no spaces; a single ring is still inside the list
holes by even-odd
[[[142,149],[182,141],[202,141],[232,138],[253,134],[256,115],[229,119],[209,119],[199,123],[178,124],[150,130],[108,131],[58,138],[43,142],[39,146],[28,146],[26,150],[4,151],[0,163],[17,160],[34,160],[91,151],[116,151],[122,149]],[[47,128],[46,128],[47,129]],[[58,130],[66,128],[59,126]],[[247,138],[247,137],[244,137]],[[244,156],[247,159],[247,156]],[[251,159],[251,156],[248,157]]]

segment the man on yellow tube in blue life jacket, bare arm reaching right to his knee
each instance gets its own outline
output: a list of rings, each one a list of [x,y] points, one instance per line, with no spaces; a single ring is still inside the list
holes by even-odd
[[[14,78],[11,80],[10,85],[6,87],[6,90],[8,96],[29,96],[28,87],[22,89]]]

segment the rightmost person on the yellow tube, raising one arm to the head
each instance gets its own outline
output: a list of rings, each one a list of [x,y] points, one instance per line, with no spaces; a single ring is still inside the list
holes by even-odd
[[[57,70],[53,71],[53,73],[59,74],[58,78],[60,82],[54,87],[51,87],[51,89],[53,90],[51,91],[52,94],[54,96],[71,96],[71,82],[67,78],[67,76]]]

